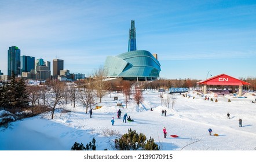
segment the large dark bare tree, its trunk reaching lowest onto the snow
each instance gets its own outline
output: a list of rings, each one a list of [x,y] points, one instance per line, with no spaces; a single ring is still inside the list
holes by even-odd
[[[46,100],[46,106],[50,109],[52,113],[52,119],[54,117],[54,111],[63,106],[64,95],[64,83],[63,82],[52,82],[52,90],[49,92],[49,95]]]

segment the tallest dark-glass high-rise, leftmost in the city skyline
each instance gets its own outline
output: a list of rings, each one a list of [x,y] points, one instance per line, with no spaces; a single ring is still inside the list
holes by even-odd
[[[20,75],[20,49],[16,46],[9,47],[8,50],[8,76]]]

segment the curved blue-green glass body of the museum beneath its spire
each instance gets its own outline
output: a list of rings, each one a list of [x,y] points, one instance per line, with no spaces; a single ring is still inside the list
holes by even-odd
[[[159,78],[160,63],[145,50],[134,50],[108,56],[104,69],[108,77],[122,77],[126,80],[153,80]]]

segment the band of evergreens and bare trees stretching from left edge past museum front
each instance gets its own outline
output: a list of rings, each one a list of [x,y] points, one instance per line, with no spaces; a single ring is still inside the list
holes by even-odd
[[[105,78],[103,68],[97,69],[92,76],[76,82],[60,82],[47,80],[39,85],[26,84],[23,78],[15,78],[13,75],[9,82],[0,86],[0,108],[10,112],[21,112],[24,109],[32,113],[50,112],[51,118],[57,109],[64,110],[65,105],[71,103],[75,108],[77,102],[85,107],[85,112],[92,106],[101,102],[103,96],[114,90],[122,91],[126,95],[127,102],[130,99],[131,84],[133,82],[122,81],[122,84],[111,83]],[[142,101],[142,92],[136,87],[134,95],[137,104]],[[97,100],[98,99],[98,100]]]

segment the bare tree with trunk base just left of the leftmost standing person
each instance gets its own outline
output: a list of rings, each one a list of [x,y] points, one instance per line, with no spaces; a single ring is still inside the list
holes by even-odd
[[[89,108],[94,104],[96,94],[93,91],[92,78],[85,80],[85,82],[78,83],[78,98],[86,108],[86,113]]]

